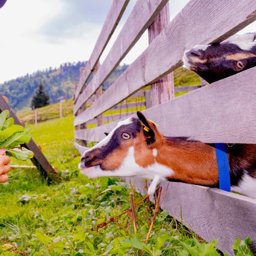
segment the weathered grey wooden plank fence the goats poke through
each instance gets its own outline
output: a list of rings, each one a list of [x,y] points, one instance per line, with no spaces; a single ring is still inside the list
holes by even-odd
[[[175,99],[172,80],[184,50],[222,41],[256,20],[256,1],[190,0],[169,21],[168,0],[137,0],[100,65],[99,58],[127,4],[128,0],[113,0],[90,60],[81,69],[74,97],[75,138],[81,141],[75,145],[80,154],[86,150],[86,141],[100,141],[104,132],[116,126],[116,122],[104,125],[102,113],[146,85],[151,85],[154,107],[143,113],[160,124],[165,136],[191,137],[204,143],[256,143],[256,67]],[[102,93],[102,84],[146,29],[147,49]],[[89,76],[93,78],[87,83]],[[94,102],[86,108],[91,96]],[[95,118],[98,126],[86,129],[86,123]],[[143,193],[140,180],[133,181]],[[163,188],[167,183],[161,183]],[[177,219],[181,218],[181,207],[184,223],[207,241],[219,238],[218,248],[229,255],[235,238],[247,236],[256,253],[255,199],[172,182],[162,207]]]

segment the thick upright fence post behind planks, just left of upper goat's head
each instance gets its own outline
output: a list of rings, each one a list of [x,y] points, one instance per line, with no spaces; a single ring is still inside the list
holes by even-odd
[[[169,3],[163,7],[154,22],[148,27],[148,43],[150,44],[169,24]],[[162,77],[151,85],[152,106],[174,98],[173,72]]]

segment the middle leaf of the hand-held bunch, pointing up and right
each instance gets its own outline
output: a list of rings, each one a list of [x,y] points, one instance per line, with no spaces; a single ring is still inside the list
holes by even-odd
[[[31,129],[31,125],[27,125],[24,128],[23,132],[17,132],[12,136],[8,137],[6,142],[1,144],[0,147],[12,148],[23,143],[29,143],[29,140],[31,139],[31,134],[29,133],[30,129]]]

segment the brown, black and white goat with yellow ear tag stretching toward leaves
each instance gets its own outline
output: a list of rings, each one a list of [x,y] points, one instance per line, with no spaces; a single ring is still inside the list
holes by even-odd
[[[214,145],[184,137],[164,137],[141,112],[128,118],[93,148],[84,152],[79,168],[88,177],[152,179],[148,194],[160,180],[218,187]],[[256,144],[227,146],[232,190],[256,198]]]

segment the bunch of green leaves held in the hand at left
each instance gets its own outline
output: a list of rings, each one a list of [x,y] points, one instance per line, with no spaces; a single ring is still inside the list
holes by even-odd
[[[31,139],[31,126],[14,125],[12,117],[9,118],[9,111],[0,113],[0,148],[6,148],[6,154],[18,160],[27,160],[34,156],[34,153],[21,144],[29,143]]]

